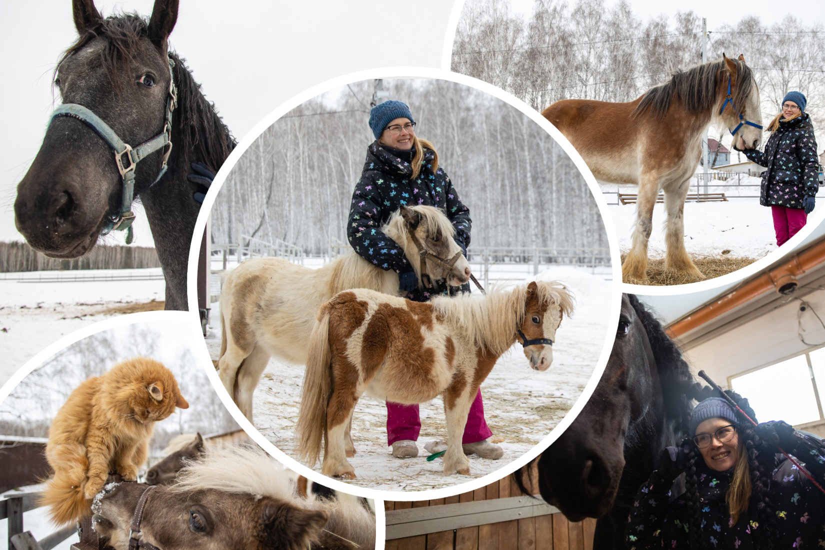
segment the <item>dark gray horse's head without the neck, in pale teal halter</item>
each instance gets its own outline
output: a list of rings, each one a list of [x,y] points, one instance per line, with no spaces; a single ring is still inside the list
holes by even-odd
[[[65,104],[92,111],[133,148],[163,134],[166,125],[172,79],[167,37],[177,3],[158,0],[147,24],[138,16],[103,19],[92,0],[73,1],[80,37],[59,63],[55,85]],[[135,193],[158,177],[164,149],[135,167]],[[130,161],[123,155],[121,163]],[[17,186],[16,226],[47,256],[82,256],[120,214],[122,197],[115,152],[100,130],[75,116],[58,116]]]

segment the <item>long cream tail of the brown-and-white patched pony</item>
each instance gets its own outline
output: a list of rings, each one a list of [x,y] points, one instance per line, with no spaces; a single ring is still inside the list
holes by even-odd
[[[332,370],[329,353],[329,304],[318,312],[309,336],[309,357],[304,371],[304,389],[298,412],[298,454],[313,466],[321,454],[322,439],[327,436],[327,403],[332,393]]]

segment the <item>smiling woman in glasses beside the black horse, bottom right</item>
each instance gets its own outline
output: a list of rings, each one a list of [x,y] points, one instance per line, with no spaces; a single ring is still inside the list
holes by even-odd
[[[727,393],[755,418],[747,400]],[[639,489],[625,538],[630,550],[825,547],[825,493],[816,486],[825,484],[821,440],[782,421],[753,426],[720,397],[696,405],[691,430],[680,449],[662,451],[660,467]],[[681,472],[686,491],[672,499]]]

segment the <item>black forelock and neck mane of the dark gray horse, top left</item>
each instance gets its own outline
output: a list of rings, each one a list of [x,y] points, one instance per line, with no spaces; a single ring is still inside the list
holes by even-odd
[[[120,81],[114,78],[115,74],[121,62],[133,59],[139,40],[148,38],[148,23],[134,13],[101,19],[97,26],[83,32],[64,52],[58,68],[65,59],[97,37],[106,39],[100,60],[117,93]],[[177,108],[172,113],[172,156],[186,154],[187,167],[190,160],[198,160],[217,172],[235,147],[235,139],[220,119],[214,104],[200,92],[200,84],[192,78],[185,59],[174,52],[170,52],[169,57],[175,63],[172,75],[177,87]],[[55,76],[58,68],[54,69]]]

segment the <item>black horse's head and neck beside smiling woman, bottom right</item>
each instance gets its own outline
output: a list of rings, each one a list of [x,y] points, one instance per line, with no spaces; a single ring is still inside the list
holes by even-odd
[[[596,538],[621,548],[636,491],[659,452],[686,435],[693,383],[662,324],[634,295],[623,295],[615,343],[596,390],[538,458],[544,500],[573,520],[609,515],[596,523]],[[515,474],[522,490],[526,472]]]

